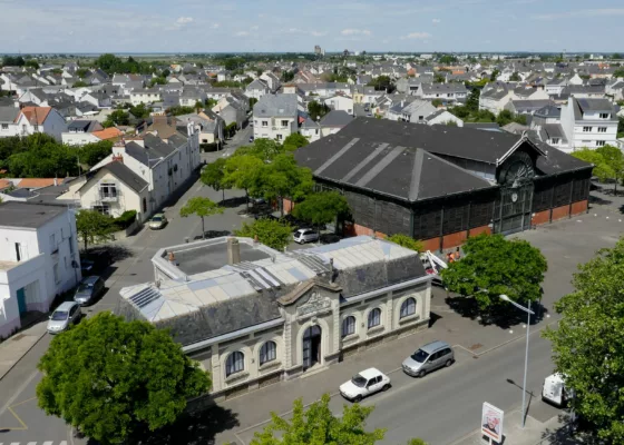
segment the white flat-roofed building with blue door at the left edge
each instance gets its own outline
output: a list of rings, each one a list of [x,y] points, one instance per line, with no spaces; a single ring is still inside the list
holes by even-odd
[[[66,206],[0,204],[0,337],[27,312],[47,313],[81,279],[76,218]]]

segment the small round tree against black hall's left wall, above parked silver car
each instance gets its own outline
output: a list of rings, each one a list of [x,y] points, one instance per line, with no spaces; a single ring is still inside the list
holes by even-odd
[[[304,221],[312,222],[316,229],[325,224],[334,222],[338,217],[350,212],[349,202],[338,191],[312,194],[293,208],[293,215]]]

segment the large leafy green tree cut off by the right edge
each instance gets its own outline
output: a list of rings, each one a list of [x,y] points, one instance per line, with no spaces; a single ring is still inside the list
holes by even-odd
[[[574,274],[575,290],[555,303],[562,314],[544,336],[553,342],[555,370],[575,397],[576,413],[611,444],[624,443],[624,238],[598,250]]]

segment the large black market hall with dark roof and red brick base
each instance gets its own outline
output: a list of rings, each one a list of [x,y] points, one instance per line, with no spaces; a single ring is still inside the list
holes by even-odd
[[[406,234],[429,250],[586,211],[592,176],[592,165],[527,135],[370,118],[295,159],[319,189],[345,196],[351,217],[340,230]]]

